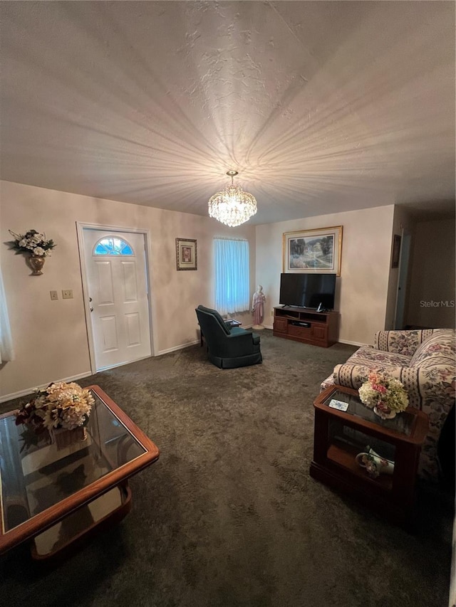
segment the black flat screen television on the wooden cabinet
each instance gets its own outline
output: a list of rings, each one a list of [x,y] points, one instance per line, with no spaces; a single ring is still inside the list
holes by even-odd
[[[336,274],[281,274],[281,305],[333,310]]]

